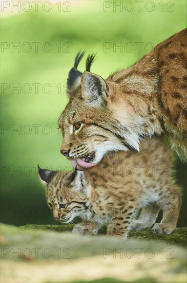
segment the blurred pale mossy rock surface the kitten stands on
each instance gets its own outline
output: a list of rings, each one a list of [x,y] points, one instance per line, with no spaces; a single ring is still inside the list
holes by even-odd
[[[2,224],[1,282],[186,282],[186,228],[123,241],[73,235],[72,227]]]

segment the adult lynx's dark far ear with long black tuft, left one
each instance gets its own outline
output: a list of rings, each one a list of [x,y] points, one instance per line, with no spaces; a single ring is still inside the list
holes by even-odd
[[[67,93],[69,98],[73,98],[77,88],[80,86],[80,78],[82,73],[77,70],[80,60],[84,57],[85,51],[78,52],[75,57],[74,67],[71,68],[67,80]]]

